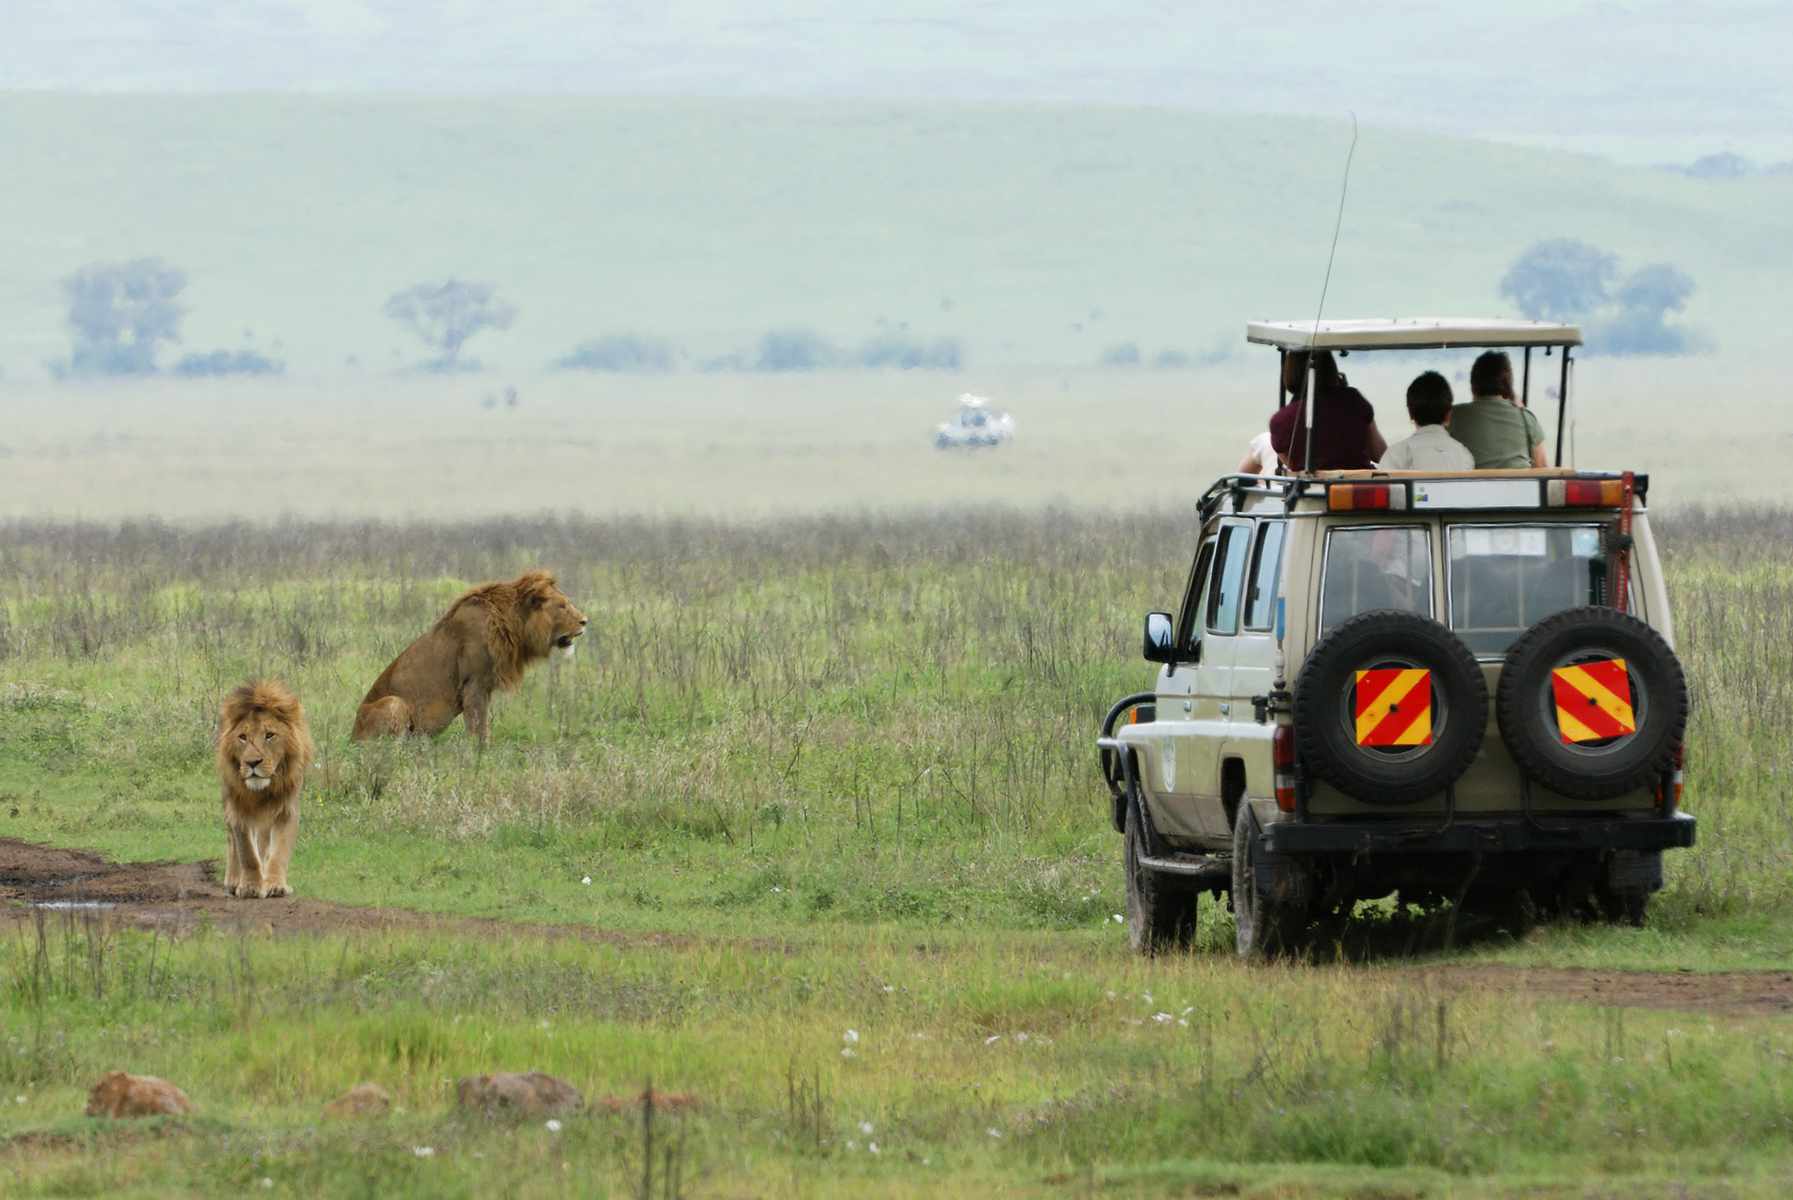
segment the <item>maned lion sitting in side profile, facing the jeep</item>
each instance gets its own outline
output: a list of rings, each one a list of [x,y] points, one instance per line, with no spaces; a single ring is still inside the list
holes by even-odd
[[[373,682],[355,714],[355,741],[434,735],[466,714],[484,746],[491,694],[516,687],[525,667],[556,649],[570,658],[586,624],[545,570],[472,588]]]

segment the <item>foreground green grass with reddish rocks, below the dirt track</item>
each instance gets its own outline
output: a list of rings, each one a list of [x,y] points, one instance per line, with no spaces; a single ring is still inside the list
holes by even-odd
[[[563,1161],[626,1195],[631,1119],[486,1126],[454,1110],[452,1080],[488,1069],[550,1071],[590,1098],[649,1078],[699,1096],[671,1121],[697,1195],[1169,1191],[1191,1159],[1221,1178],[1359,1168],[1314,1177],[1312,1195],[1517,1195],[1581,1175],[1770,1195],[1752,1177],[1788,1178],[1784,1022],[1433,994],[1399,967],[846,927],[769,947],[221,931],[170,945],[52,922],[43,945],[45,965],[30,935],[7,963],[5,1128],[77,1141],[0,1152],[22,1195],[215,1195],[260,1177],[283,1195],[565,1195]],[[199,1119],[147,1139],[70,1119],[118,1062],[181,1082]],[[319,1123],[360,1080],[394,1094],[394,1116]]]

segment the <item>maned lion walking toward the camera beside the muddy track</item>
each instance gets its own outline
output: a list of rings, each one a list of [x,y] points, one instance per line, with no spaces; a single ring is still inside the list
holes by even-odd
[[[219,780],[230,834],[224,890],[238,899],[287,895],[299,838],[299,787],[312,734],[299,698],[274,682],[244,683],[219,710]]]

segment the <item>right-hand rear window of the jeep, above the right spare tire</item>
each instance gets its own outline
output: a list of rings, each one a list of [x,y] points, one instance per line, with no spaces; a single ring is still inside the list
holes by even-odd
[[[1598,526],[1451,526],[1451,628],[1477,658],[1499,658],[1533,624],[1599,603]]]

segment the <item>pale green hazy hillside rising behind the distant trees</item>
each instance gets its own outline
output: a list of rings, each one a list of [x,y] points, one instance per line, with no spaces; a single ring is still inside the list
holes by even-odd
[[[974,366],[1207,352],[1312,312],[1347,140],[1146,109],[7,93],[0,370],[66,353],[63,274],[138,255],[188,271],[186,348],[278,343],[298,375],[421,359],[380,305],[445,274],[520,307],[470,346],[509,371],[617,330],[708,357],[880,319]],[[1725,326],[1782,300],[1789,201],[1786,176],[1364,129],[1327,307],[1499,310],[1513,255],[1567,235],[1678,264],[1689,321],[1745,352],[1763,334]]]

